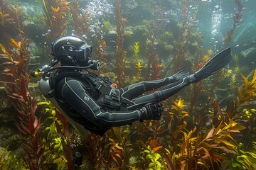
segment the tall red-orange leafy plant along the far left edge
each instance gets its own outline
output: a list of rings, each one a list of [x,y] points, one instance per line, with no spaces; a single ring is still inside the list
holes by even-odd
[[[9,101],[18,113],[16,123],[23,140],[25,159],[30,169],[40,169],[43,166],[42,147],[39,142],[41,123],[36,117],[36,97],[28,89],[30,76],[27,72],[29,41],[10,39],[12,50],[6,50],[0,44],[1,67],[0,82],[4,85]]]

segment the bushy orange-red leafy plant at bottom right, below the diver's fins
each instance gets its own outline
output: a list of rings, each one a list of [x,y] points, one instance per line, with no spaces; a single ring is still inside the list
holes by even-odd
[[[176,154],[171,154],[166,149],[166,162],[175,169],[207,169],[208,166],[220,166],[225,155],[229,152],[235,154],[235,140],[231,136],[231,132],[239,132],[245,129],[230,120],[229,124],[221,122],[217,128],[212,127],[207,132],[199,130],[197,135],[193,137],[197,128],[184,132],[181,150]],[[231,140],[231,141],[229,141]]]

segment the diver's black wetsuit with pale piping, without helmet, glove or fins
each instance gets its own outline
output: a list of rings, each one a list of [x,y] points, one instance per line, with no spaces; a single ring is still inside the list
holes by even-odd
[[[112,89],[112,81],[108,77],[98,77],[91,72],[64,72],[55,75],[55,78],[55,96],[61,107],[65,108],[70,118],[98,135],[103,135],[111,127],[141,120],[139,108],[146,103],[159,103],[191,84],[187,77],[167,77]],[[154,89],[158,90],[140,96]]]

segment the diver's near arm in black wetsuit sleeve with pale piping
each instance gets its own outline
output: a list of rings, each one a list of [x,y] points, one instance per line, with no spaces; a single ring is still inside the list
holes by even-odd
[[[75,108],[80,115],[99,127],[127,125],[135,120],[154,118],[148,115],[148,113],[139,110],[116,112],[102,111],[97,102],[85,91],[80,81],[67,78],[63,79],[63,81],[62,83],[60,81],[60,84],[62,84],[61,95],[65,101],[71,107]]]

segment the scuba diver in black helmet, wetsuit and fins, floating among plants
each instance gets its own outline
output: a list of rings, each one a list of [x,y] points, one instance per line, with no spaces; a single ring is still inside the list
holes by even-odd
[[[31,75],[41,76],[41,93],[82,135],[87,135],[88,130],[104,135],[114,126],[131,125],[136,120],[159,120],[161,101],[218,72],[232,60],[227,48],[194,74],[183,69],[171,77],[117,88],[109,77],[90,72],[99,69],[100,62],[90,60],[92,47],[82,38],[58,38],[52,43],[52,55],[54,59],[49,65]],[[142,96],[154,89],[157,90]]]

